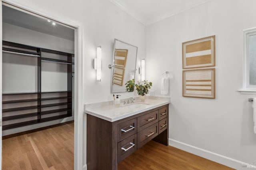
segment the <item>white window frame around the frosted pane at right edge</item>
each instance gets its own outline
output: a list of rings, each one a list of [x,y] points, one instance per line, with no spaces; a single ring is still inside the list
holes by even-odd
[[[250,55],[248,37],[256,35],[256,28],[244,30],[244,67],[243,67],[243,90],[256,92],[256,85],[250,85]]]

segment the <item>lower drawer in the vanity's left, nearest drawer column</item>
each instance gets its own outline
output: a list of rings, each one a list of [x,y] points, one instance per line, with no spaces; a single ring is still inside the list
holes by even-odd
[[[137,150],[137,134],[118,143],[118,162]]]

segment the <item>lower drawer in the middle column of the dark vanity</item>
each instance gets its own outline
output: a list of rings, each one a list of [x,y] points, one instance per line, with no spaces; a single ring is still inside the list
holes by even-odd
[[[146,144],[148,141],[153,139],[158,135],[158,122],[154,125],[151,125],[150,127],[138,132],[138,146],[137,148],[140,148],[144,144]]]

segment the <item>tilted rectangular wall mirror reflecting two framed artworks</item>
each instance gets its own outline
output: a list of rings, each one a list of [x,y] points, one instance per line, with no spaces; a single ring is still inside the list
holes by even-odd
[[[112,67],[112,93],[126,92],[125,83],[135,79],[138,47],[115,39]]]

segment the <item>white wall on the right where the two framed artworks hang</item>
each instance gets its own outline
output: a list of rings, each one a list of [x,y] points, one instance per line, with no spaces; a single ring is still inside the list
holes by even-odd
[[[243,30],[256,27],[255,6],[255,0],[212,0],[146,28],[146,79],[152,81],[155,95],[160,95],[162,73],[170,71],[174,76],[171,144],[183,142],[256,165],[256,134],[248,102],[253,95],[237,92],[242,89]],[[182,42],[212,35],[216,35],[216,99],[182,97]],[[223,160],[219,162],[242,168]]]

